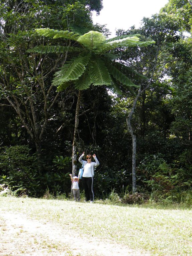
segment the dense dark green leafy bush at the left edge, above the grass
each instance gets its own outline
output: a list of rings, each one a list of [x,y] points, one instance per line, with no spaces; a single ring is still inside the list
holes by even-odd
[[[28,146],[4,147],[0,154],[0,184],[16,195],[36,195],[39,186],[37,158]]]

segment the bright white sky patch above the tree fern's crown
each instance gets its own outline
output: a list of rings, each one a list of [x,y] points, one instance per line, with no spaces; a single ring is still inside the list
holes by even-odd
[[[138,28],[143,17],[150,18],[159,13],[168,2],[169,0],[103,0],[100,15],[93,13],[93,23],[107,24],[106,27],[112,33],[110,37],[114,37],[116,29],[127,30],[133,25]]]

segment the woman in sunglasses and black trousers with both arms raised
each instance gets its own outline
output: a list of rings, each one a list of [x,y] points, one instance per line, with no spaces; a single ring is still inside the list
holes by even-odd
[[[85,152],[80,156],[79,162],[81,164],[84,164],[84,171],[83,171],[83,177],[82,182],[85,189],[85,199],[86,201],[90,200],[90,203],[93,203],[94,201],[94,192],[93,192],[93,181],[94,181],[94,170],[97,166],[99,166],[99,161],[96,158],[96,155],[93,154],[93,158],[95,162],[91,161],[91,155],[86,156],[86,160],[82,160],[84,157]]]

